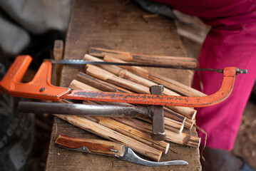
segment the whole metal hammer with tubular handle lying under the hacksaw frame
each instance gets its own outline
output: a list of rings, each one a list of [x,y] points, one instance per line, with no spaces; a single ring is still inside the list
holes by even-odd
[[[151,86],[152,94],[163,94],[163,86]],[[122,105],[84,105],[74,103],[41,103],[21,101],[19,112],[48,113],[62,115],[86,115],[108,117],[151,118],[153,140],[165,140],[163,105],[122,106]]]

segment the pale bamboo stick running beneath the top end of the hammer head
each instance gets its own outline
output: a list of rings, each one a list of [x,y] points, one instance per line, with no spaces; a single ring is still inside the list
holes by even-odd
[[[113,84],[116,84],[118,86],[122,86],[123,88],[128,88],[129,90],[132,90],[136,93],[150,93],[149,88],[145,86],[141,86],[138,83],[134,83],[133,81],[128,81],[124,78],[120,78],[113,73],[110,73],[102,68],[99,68],[97,66],[92,65],[86,65],[86,73],[90,76],[96,77],[98,79],[101,79],[103,81],[107,81]],[[167,95],[165,93],[166,91],[163,91],[163,94]],[[169,95],[169,94],[168,94]],[[179,107],[179,106],[167,106],[167,108],[171,108],[178,113],[185,115],[185,117],[188,117],[190,119],[195,118],[196,110],[193,110],[192,108],[188,107]]]

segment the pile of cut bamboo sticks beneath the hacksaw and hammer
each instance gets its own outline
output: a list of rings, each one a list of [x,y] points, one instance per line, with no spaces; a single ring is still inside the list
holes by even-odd
[[[114,52],[114,53],[113,53]],[[99,58],[97,58],[97,57]],[[128,57],[128,58],[127,58]],[[132,60],[129,53],[91,48],[90,55],[84,60],[121,62]],[[146,58],[146,56],[144,56]],[[167,58],[167,57],[166,57]],[[126,61],[123,61],[125,59]],[[168,58],[167,58],[168,59]],[[145,60],[145,59],[144,59]],[[204,96],[205,94],[173,81],[165,76],[152,73],[136,66],[93,66],[88,64],[86,71],[78,73],[70,88],[78,90],[108,91],[120,93],[150,93],[150,86],[164,86],[163,95]],[[131,105],[128,103],[106,103],[84,101],[85,104]],[[183,133],[183,128],[191,129],[195,123],[196,110],[187,107],[166,106],[165,133],[166,140],[190,147],[199,147],[200,138]],[[121,142],[153,160],[159,161],[162,153],[167,153],[169,143],[152,140],[152,124],[145,118],[104,118],[81,117],[74,115],[56,115],[73,125],[88,130],[108,140]]]

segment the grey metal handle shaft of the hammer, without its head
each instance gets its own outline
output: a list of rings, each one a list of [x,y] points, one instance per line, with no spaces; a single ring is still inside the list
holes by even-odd
[[[149,108],[144,106],[84,105],[72,103],[19,102],[19,112],[66,115],[141,117],[149,118]]]

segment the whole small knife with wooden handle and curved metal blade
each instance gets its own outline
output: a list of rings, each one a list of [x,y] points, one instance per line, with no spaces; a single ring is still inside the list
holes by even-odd
[[[56,144],[70,150],[88,152],[97,155],[108,155],[117,157],[120,160],[133,162],[145,166],[165,166],[165,165],[188,165],[184,160],[173,160],[168,162],[152,162],[144,160],[133,152],[130,147],[116,142],[106,140],[92,140],[86,138],[73,138],[66,135],[58,135]]]

